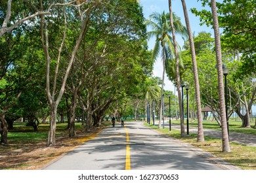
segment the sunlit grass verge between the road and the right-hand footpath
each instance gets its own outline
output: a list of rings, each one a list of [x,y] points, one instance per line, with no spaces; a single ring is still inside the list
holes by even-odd
[[[196,134],[181,137],[181,132],[176,129],[172,129],[170,132],[169,128],[158,129],[158,126],[153,126],[152,124],[148,125],[147,123],[144,123],[144,125],[161,131],[161,133],[165,133],[175,139],[191,144],[192,146],[196,146],[205,152],[209,152],[221,159],[224,159],[224,161],[237,165],[241,169],[256,170],[256,147],[230,142],[231,152],[223,153],[221,139],[213,139],[205,136],[205,142],[197,142]]]

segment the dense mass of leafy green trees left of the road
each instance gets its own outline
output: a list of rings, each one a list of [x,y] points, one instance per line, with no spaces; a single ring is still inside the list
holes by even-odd
[[[73,137],[77,110],[90,129],[142,98],[143,81],[152,80],[137,1],[1,2],[1,25],[2,143],[17,118],[36,128],[38,118],[49,116],[47,145],[54,145],[64,108]]]

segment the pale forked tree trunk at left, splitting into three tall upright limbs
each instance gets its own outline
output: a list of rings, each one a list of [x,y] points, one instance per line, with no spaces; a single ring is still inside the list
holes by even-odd
[[[94,5],[92,5],[88,11],[87,14],[93,8],[98,5],[98,2],[96,2]],[[43,3],[40,2],[41,10],[43,10]],[[87,25],[89,23],[89,18],[90,16],[86,16],[85,20],[81,19],[81,30],[79,31],[79,37],[77,38],[77,41],[75,42],[74,49],[72,50],[72,54],[70,55],[70,60],[68,62],[68,66],[66,67],[65,74],[62,78],[62,83],[60,83],[60,89],[58,90],[58,96],[56,97],[55,100],[55,95],[56,95],[56,81],[57,81],[57,76],[58,76],[58,65],[60,63],[60,58],[61,58],[61,53],[62,53],[62,48],[64,46],[64,42],[66,39],[66,27],[68,22],[66,21],[66,12],[65,8],[63,7],[63,14],[64,14],[64,32],[63,32],[63,37],[62,37],[62,42],[60,43],[60,47],[58,48],[58,58],[56,62],[56,67],[55,67],[55,74],[53,76],[53,85],[50,83],[50,63],[52,61],[50,52],[49,52],[49,30],[48,30],[48,25],[47,21],[45,20],[44,16],[41,16],[41,43],[43,47],[43,51],[45,53],[45,58],[46,58],[46,93],[47,93],[47,99],[49,101],[49,105],[51,107],[51,118],[50,118],[50,131],[48,135],[48,146],[54,145],[55,144],[55,129],[56,129],[56,110],[58,107],[58,104],[60,103],[60,100],[62,99],[62,95],[64,94],[65,88],[66,88],[66,82],[68,80],[68,76],[70,75],[70,70],[72,69],[72,65],[74,64],[75,61],[75,55],[77,54],[77,50],[80,47],[81,41],[83,37],[85,36],[85,32],[87,30]],[[51,86],[53,86],[52,91],[51,91]]]

